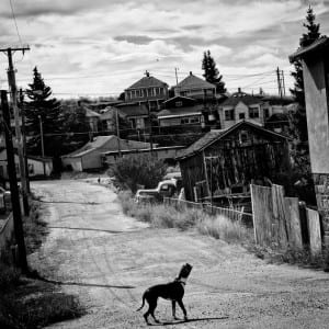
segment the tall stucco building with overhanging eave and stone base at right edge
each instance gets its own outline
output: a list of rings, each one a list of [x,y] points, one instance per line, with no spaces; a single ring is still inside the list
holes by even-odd
[[[325,243],[329,245],[329,38],[299,48],[290,60],[302,60],[310,169]]]

